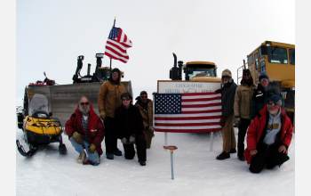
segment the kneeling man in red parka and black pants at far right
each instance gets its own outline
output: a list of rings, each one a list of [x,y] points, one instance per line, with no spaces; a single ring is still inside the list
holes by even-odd
[[[251,173],[259,173],[264,167],[281,167],[290,159],[287,152],[291,136],[291,119],[283,110],[282,97],[272,94],[248,127],[244,156]]]

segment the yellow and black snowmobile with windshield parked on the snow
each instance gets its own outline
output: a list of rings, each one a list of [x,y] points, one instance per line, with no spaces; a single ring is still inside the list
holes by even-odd
[[[40,145],[49,143],[60,143],[60,154],[67,153],[66,145],[62,143],[60,120],[52,118],[52,113],[49,112],[49,102],[44,94],[34,94],[28,109],[18,110],[17,118],[18,127],[22,129],[24,140],[29,147],[29,150],[25,151],[20,141],[16,140],[17,148],[22,156],[31,157]]]

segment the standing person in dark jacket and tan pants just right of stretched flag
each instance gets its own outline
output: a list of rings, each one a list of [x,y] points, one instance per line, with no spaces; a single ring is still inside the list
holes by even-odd
[[[216,157],[219,160],[228,159],[230,158],[230,153],[236,152],[235,131],[233,129],[236,84],[229,69],[222,71],[221,83],[222,117],[220,124],[222,124],[223,146],[222,152]]]

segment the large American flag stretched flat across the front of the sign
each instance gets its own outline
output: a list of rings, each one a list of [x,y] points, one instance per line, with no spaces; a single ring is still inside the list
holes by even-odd
[[[155,94],[155,130],[208,133],[221,130],[221,94]]]

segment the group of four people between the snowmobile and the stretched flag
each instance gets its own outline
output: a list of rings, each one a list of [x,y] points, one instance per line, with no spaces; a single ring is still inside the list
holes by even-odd
[[[103,153],[101,142],[105,138],[107,159],[122,156],[122,151],[117,148],[117,139],[120,139],[124,158],[134,159],[135,144],[139,163],[146,166],[146,151],[154,136],[153,103],[146,91],[140,92],[136,100],[133,105],[132,95],[121,83],[119,69],[112,69],[109,80],[100,86],[100,117],[88,97],[81,97],[65,126],[69,141],[79,154],[77,162],[99,165]]]

